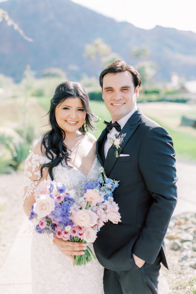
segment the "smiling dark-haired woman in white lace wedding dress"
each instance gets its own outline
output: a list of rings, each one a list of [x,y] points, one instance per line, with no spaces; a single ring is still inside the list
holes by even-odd
[[[25,161],[24,211],[30,215],[34,189],[44,179],[62,182],[83,195],[86,181],[98,178],[93,129],[96,116],[89,108],[86,91],[79,83],[56,87],[51,99],[47,131]],[[77,200],[77,199],[76,199]],[[84,243],[63,241],[33,232],[31,250],[32,294],[102,294],[103,267],[97,260],[73,266],[73,255],[82,255]],[[88,244],[93,250],[92,244]]]

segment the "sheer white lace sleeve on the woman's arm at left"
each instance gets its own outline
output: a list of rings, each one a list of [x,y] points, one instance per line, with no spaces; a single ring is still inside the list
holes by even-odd
[[[43,168],[43,176],[41,177],[41,166],[43,163],[47,163],[50,160],[46,156],[35,154],[30,151],[29,156],[26,158],[24,167],[24,196],[23,207],[26,215],[29,216],[30,208],[35,203],[34,189],[39,185],[41,181],[47,178],[48,168]]]

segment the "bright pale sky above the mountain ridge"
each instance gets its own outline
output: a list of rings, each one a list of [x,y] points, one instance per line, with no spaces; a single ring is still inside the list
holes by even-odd
[[[0,2],[2,1],[5,0],[0,0]],[[164,27],[176,28],[179,30],[193,31],[196,33],[196,3],[194,0],[71,1],[85,6],[100,14],[113,18],[116,21],[128,21],[131,24],[143,29],[152,29],[156,25],[160,25]]]

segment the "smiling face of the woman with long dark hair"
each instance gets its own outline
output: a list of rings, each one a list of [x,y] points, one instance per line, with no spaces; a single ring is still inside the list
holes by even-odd
[[[85,122],[86,111],[80,98],[67,98],[59,103],[55,109],[58,126],[65,132],[76,132]]]

